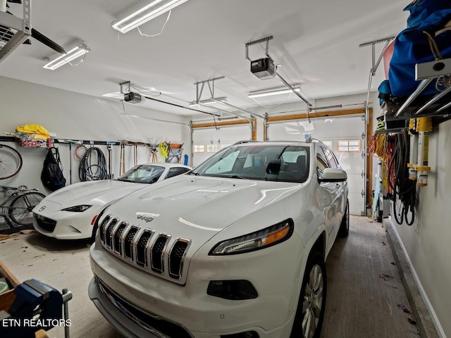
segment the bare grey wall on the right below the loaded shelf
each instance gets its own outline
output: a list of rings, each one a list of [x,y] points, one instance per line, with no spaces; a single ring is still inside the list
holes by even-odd
[[[414,276],[433,308],[442,337],[451,337],[451,121],[434,126],[429,138],[428,186],[419,188],[419,209],[412,226],[398,225],[397,235]],[[441,325],[441,327],[440,327]]]

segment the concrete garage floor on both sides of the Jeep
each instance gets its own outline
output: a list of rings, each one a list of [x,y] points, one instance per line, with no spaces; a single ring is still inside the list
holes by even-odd
[[[20,234],[0,242],[0,260],[21,282],[35,278],[69,289],[72,338],[121,338],[87,296],[92,278],[89,244]],[[338,238],[327,260],[326,314],[321,338],[419,337],[409,320],[409,302],[388,246],[385,227],[351,216],[349,237]],[[64,337],[62,327],[48,333]]]

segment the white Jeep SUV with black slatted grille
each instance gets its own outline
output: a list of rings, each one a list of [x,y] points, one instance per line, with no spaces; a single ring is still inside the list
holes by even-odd
[[[321,142],[240,142],[104,208],[89,297],[124,337],[319,337],[347,175]]]

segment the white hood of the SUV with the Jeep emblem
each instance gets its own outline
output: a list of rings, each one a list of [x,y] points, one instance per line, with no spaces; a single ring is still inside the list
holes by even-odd
[[[245,215],[280,201],[302,184],[183,175],[130,194],[108,213],[158,232],[210,239]],[[140,215],[153,214],[152,220]],[[201,234],[202,233],[202,234]]]

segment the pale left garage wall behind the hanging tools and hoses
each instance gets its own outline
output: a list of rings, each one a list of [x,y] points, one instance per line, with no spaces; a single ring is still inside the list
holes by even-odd
[[[45,87],[39,84],[0,77],[1,123],[0,134],[14,132],[18,125],[37,123],[60,139],[84,139],[94,141],[114,141],[126,139],[132,142],[158,143],[162,141],[190,144],[190,130],[180,123],[188,119],[170,113],[154,111],[142,106],[119,101],[99,99],[94,96]],[[125,107],[125,111],[124,108]],[[128,115],[140,116],[141,118]],[[148,118],[170,120],[165,123]],[[16,142],[6,144],[16,147],[23,156],[23,168],[18,175],[0,184],[18,186],[26,184],[47,192],[42,186],[40,174],[46,149],[24,148]],[[61,154],[64,175],[70,182],[78,182],[78,163],[70,159],[69,145],[56,144]],[[89,145],[88,145],[89,146]],[[98,146],[108,161],[106,146]],[[73,149],[75,145],[73,145]],[[120,147],[113,146],[113,173],[118,177]],[[126,169],[133,165],[132,146],[125,146]],[[138,147],[138,163],[151,161],[149,151]],[[189,154],[189,153],[188,153]],[[70,161],[72,165],[70,166]]]

